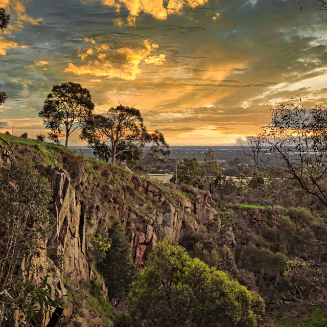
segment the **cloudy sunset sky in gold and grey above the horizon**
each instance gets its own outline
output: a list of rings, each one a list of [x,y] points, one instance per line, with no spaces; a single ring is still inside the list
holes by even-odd
[[[46,134],[53,85],[141,110],[170,145],[234,145],[299,96],[327,97],[327,17],[291,0],[0,0],[3,132]],[[326,11],[327,12],[327,11]],[[326,15],[327,16],[327,15]],[[78,132],[69,145],[79,145]]]

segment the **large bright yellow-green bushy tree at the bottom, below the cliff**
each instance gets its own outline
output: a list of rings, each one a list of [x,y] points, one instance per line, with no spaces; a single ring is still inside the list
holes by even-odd
[[[257,326],[263,314],[258,295],[167,240],[150,254],[129,301],[130,315],[146,326]]]

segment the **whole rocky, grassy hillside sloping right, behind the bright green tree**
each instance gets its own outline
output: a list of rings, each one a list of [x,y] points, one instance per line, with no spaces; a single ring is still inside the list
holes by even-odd
[[[114,251],[112,241],[110,249],[100,246],[103,253],[97,252],[105,243],[103,235],[111,240],[119,235],[119,242],[129,245],[119,255],[129,253],[138,271],[157,243],[168,238],[192,257],[260,292],[269,305],[270,326],[297,326],[300,321],[303,326],[323,325],[322,309],[291,302],[283,278],[290,258],[299,252],[310,256],[315,247],[294,235],[309,230],[312,238],[322,239],[326,230],[325,223],[313,220],[306,209],[279,206],[275,213],[258,203],[213,201],[208,192],[177,190],[61,146],[1,136],[12,144],[19,165],[31,160],[51,183],[50,211],[56,223],[50,236],[33,253],[26,253],[19,270],[34,283],[50,275],[52,296],[68,295],[66,314],[78,311],[71,325],[110,326],[123,310],[120,288],[129,283],[129,276],[114,285],[106,279],[106,269],[120,274],[124,267],[108,268],[101,264],[106,262],[103,258],[98,260],[106,250],[110,259]],[[126,235],[118,232],[121,227]],[[33,270],[26,268],[30,266]]]

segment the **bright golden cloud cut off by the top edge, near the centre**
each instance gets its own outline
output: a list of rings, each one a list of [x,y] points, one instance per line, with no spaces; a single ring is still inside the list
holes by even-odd
[[[83,1],[83,0],[82,0]],[[97,0],[88,0],[94,2]],[[127,19],[129,25],[135,24],[135,17],[141,12],[152,15],[156,19],[164,20],[169,14],[179,14],[184,7],[196,8],[206,4],[208,0],[101,0],[105,6],[116,8],[119,12],[124,6],[129,11]],[[121,19],[116,19],[114,24],[122,25]]]

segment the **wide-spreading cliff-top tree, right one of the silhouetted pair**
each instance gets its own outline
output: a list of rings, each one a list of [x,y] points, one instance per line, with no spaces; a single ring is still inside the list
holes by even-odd
[[[143,155],[155,159],[170,153],[162,133],[147,131],[141,111],[121,104],[92,116],[81,137],[96,154],[106,161],[111,158],[112,164],[116,159],[139,159]]]

